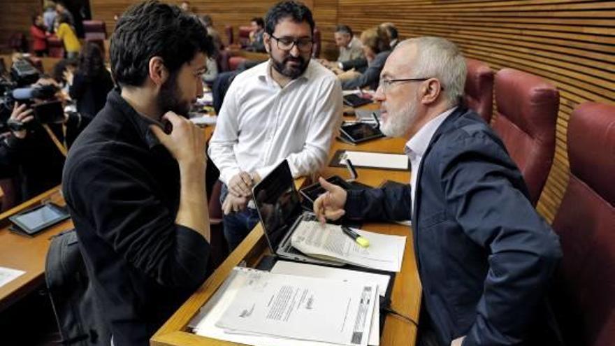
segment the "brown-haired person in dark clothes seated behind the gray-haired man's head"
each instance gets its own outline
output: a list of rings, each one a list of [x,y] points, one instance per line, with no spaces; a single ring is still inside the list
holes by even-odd
[[[361,43],[363,43],[363,53],[368,62],[368,68],[363,73],[350,70],[338,75],[338,78],[342,80],[342,89],[362,87],[375,89],[378,85],[382,66],[384,66],[386,58],[391,54],[389,38],[384,30],[379,27],[363,31],[361,33]]]

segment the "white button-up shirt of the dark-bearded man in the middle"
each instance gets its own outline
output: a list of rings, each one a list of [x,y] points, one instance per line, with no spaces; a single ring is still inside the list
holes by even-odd
[[[240,171],[263,178],[284,159],[293,177],[309,175],[324,166],[341,115],[342,87],[324,66],[310,62],[282,88],[263,62],[231,83],[208,152],[225,184]]]

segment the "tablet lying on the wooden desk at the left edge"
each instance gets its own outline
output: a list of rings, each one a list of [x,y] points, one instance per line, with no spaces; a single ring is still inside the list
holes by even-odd
[[[54,203],[45,203],[34,208],[30,208],[15,214],[8,219],[17,226],[18,231],[33,236],[34,234],[47,229],[49,226],[57,224],[71,217],[64,208]]]

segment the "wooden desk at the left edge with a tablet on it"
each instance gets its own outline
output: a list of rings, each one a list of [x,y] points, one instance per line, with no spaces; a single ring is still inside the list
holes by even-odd
[[[24,271],[23,275],[0,287],[0,312],[23,296],[36,289],[45,280],[45,259],[51,243],[50,238],[61,231],[71,229],[73,222],[68,219],[34,237],[21,236],[8,230],[8,217],[17,212],[53,201],[64,206],[60,188],[55,187],[13,209],[0,214],[0,266]]]

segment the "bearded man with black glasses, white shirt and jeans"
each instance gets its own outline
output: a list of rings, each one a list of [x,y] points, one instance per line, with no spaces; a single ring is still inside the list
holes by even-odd
[[[249,203],[254,184],[284,159],[295,177],[319,171],[342,112],[340,82],[310,62],[310,9],[283,1],[265,22],[269,60],[233,80],[209,147],[224,183],[224,236],[231,250],[259,221]]]

